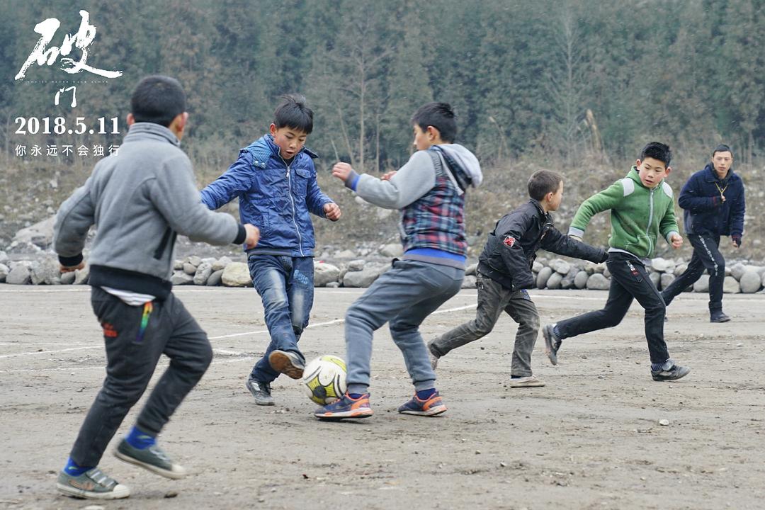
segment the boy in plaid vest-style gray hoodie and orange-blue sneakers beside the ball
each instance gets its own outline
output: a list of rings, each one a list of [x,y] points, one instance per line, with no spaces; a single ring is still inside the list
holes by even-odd
[[[415,385],[414,397],[399,407],[399,413],[434,416],[446,411],[419,326],[460,291],[467,255],[464,191],[478,186],[482,175],[474,154],[454,144],[457,124],[447,103],[421,106],[412,125],[417,151],[383,180],[356,174],[347,163],[332,169],[334,177],[364,200],[401,210],[404,255],[346,313],[348,391],[317,409],[314,416],[322,420],[372,415],[368,392],[372,336],[386,322]]]

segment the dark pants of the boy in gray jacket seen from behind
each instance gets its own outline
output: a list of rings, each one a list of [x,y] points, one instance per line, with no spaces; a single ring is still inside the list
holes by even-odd
[[[148,306],[131,307],[93,287],[90,299],[103,327],[106,379],[70,453],[80,466],[98,465],[125,415],[143,395],[162,354],[170,358],[170,366],[136,421],[150,434],[159,434],[213,359],[207,333],[174,294]]]

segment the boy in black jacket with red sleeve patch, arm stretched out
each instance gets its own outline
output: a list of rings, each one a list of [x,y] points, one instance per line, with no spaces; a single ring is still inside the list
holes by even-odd
[[[475,320],[457,326],[428,343],[431,365],[451,349],[491,332],[506,311],[519,324],[510,369],[510,388],[533,388],[545,383],[532,375],[531,352],[539,333],[539,313],[527,288],[535,284],[531,271],[538,249],[560,255],[603,262],[607,253],[564,236],[555,229],[550,211],[558,210],[563,178],[552,171],[537,171],[529,178],[531,200],[496,223],[480,255],[477,270],[478,309]]]

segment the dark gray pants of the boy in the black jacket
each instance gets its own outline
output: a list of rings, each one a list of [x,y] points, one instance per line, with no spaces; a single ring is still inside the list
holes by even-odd
[[[491,278],[477,273],[478,309],[476,318],[457,326],[430,343],[435,356],[444,356],[451,349],[464,346],[494,329],[503,310],[518,323],[516,344],[513,348],[513,366],[510,375],[531,375],[531,352],[539,333],[539,313],[525,290],[511,291]]]

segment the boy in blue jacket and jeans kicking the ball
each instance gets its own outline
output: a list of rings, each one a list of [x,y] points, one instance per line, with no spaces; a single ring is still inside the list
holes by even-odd
[[[279,373],[303,375],[298,340],[314,304],[314,226],[308,213],[340,219],[340,207],[316,182],[317,155],[304,147],[313,128],[314,112],[305,98],[282,96],[269,133],[239,151],[239,159],[201,192],[213,210],[239,197],[239,216],[260,229],[259,245],[245,249],[271,335],[246,382],[258,405],[274,405],[271,382]]]

